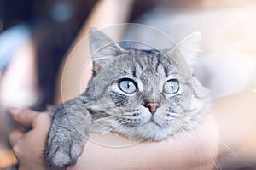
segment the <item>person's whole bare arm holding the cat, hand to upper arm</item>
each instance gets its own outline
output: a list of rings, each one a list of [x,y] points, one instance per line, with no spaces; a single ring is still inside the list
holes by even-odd
[[[78,162],[67,169],[213,169],[219,166],[218,163],[221,163],[221,167],[230,167],[237,162],[255,162],[255,101],[256,94],[253,93],[218,99],[195,131],[182,132],[160,142],[113,148],[89,140]],[[28,133],[15,130],[9,136],[20,169],[47,169],[42,150],[50,117],[45,113],[17,108],[11,108],[9,112],[16,122],[32,127]],[[113,134],[102,139],[105,142],[128,141]],[[238,156],[236,159],[234,154]]]

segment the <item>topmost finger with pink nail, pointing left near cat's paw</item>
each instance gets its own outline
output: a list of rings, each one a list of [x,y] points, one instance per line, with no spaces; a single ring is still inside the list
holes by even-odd
[[[39,112],[29,109],[20,109],[16,107],[9,108],[10,115],[14,118],[15,122],[18,122],[24,127],[32,127],[33,121],[38,116]]]

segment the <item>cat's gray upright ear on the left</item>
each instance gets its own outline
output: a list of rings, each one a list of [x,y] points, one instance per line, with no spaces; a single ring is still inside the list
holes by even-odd
[[[120,48],[110,37],[95,28],[90,29],[89,41],[95,71],[99,71],[106,62],[124,52],[124,49]]]

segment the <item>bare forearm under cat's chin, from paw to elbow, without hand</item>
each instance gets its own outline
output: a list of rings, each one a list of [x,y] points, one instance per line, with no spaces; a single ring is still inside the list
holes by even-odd
[[[105,143],[111,140],[127,142],[127,139],[113,134],[104,138]],[[208,115],[195,131],[180,133],[160,142],[113,148],[89,140],[79,162],[69,169],[212,169],[217,155],[218,128],[213,116]]]

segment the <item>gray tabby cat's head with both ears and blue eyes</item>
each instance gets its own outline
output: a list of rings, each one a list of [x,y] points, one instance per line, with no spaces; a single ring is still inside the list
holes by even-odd
[[[199,42],[194,33],[170,50],[123,49],[91,30],[94,73],[84,94],[90,111],[130,139],[164,139],[195,127],[200,115],[191,115],[191,100],[205,90],[192,76]]]

